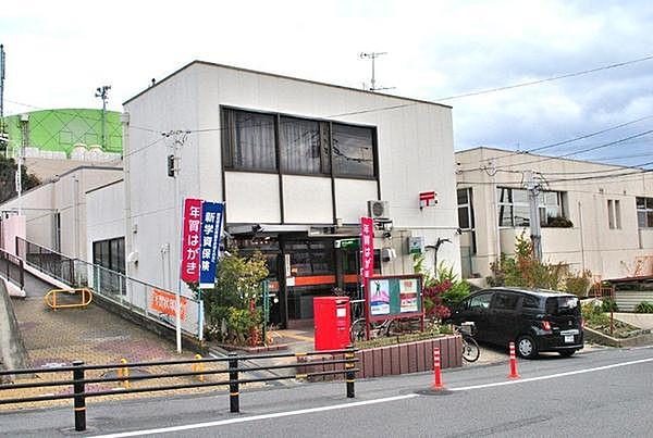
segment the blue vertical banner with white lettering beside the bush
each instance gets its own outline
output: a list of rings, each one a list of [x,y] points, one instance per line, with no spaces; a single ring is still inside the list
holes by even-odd
[[[215,287],[215,266],[222,235],[224,204],[204,201],[201,205],[201,239],[199,246],[199,288]]]

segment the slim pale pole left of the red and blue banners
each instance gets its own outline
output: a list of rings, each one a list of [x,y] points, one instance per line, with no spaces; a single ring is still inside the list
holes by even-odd
[[[181,270],[181,263],[182,263],[182,238],[183,238],[183,230],[182,230],[182,221],[183,221],[183,212],[181,211],[181,207],[180,207],[180,198],[181,198],[181,184],[180,184],[180,171],[181,168],[181,149],[183,148],[184,143],[186,142],[186,139],[188,138],[188,134],[190,134],[189,130],[170,130],[168,133],[163,133],[163,137],[165,138],[172,138],[172,168],[169,167],[169,175],[172,176],[174,178],[174,211],[176,212],[176,216],[177,216],[177,222],[176,225],[178,227],[177,230],[177,236],[178,236],[178,245],[180,245],[180,262],[178,262],[178,266]],[[177,209],[180,209],[177,211]],[[169,252],[170,255],[170,252]],[[170,274],[172,275],[172,273]],[[181,276],[181,272],[177,272],[177,290],[175,293],[175,328],[176,328],[176,347],[177,347],[177,353],[182,353],[182,276]]]

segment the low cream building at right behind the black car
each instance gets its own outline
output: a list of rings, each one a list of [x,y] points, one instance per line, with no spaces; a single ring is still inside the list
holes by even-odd
[[[497,254],[514,253],[516,236],[523,230],[530,236],[522,174],[529,170],[545,190],[540,200],[545,261],[603,279],[653,275],[650,172],[492,148],[457,152],[456,162],[465,276],[490,275]],[[547,226],[554,216],[572,226]]]

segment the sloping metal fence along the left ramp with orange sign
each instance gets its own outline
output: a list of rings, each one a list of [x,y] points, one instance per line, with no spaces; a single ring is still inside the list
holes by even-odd
[[[175,326],[174,292],[97,264],[69,258],[20,237],[16,237],[16,252],[27,265],[71,288],[93,289],[96,296],[134,313],[170,328]],[[192,297],[182,297],[181,305],[182,329],[201,339],[204,314],[201,301]]]

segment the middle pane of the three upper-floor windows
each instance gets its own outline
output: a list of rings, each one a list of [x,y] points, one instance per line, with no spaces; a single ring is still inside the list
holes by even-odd
[[[329,173],[329,124],[281,117],[281,168],[301,174]]]

